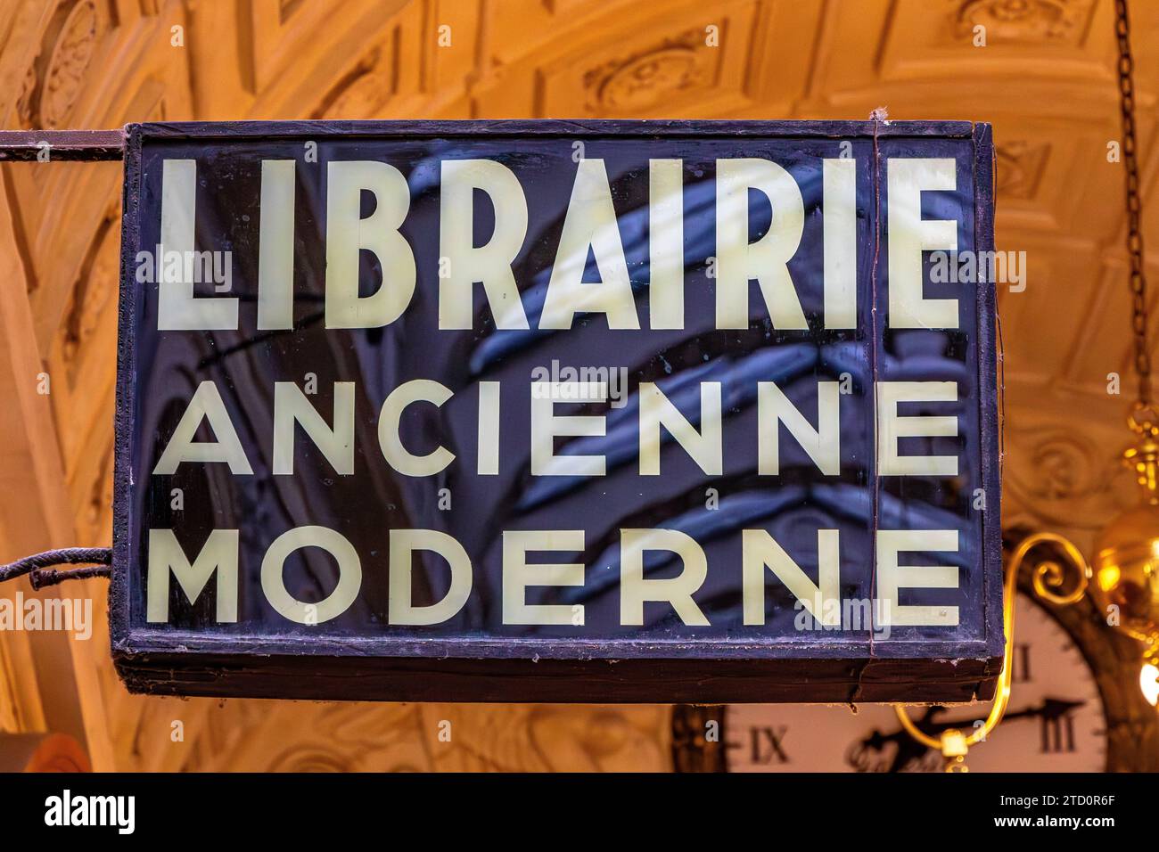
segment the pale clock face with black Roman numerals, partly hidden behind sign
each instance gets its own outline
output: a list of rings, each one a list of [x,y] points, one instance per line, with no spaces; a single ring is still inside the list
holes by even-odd
[[[986,742],[970,749],[978,772],[1103,772],[1102,697],[1070,634],[1023,595],[1015,603],[1011,702]],[[910,707],[930,734],[972,731],[990,704]],[[894,708],[734,705],[724,715],[730,772],[940,772],[942,758],[909,736]]]

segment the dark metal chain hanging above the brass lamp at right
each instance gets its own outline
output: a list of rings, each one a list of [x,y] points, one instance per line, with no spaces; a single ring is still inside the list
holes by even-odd
[[[1115,35],[1118,41],[1118,105],[1123,121],[1123,166],[1127,174],[1127,252],[1131,263],[1131,333],[1135,335],[1135,371],[1139,377],[1137,408],[1151,406],[1151,354],[1147,348],[1147,279],[1143,268],[1143,202],[1135,140],[1135,60],[1131,58],[1131,22],[1127,0],[1115,0]]]

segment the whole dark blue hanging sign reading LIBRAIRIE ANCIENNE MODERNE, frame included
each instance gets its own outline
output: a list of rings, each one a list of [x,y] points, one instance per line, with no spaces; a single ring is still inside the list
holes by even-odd
[[[118,669],[985,697],[993,268],[983,124],[132,126]]]

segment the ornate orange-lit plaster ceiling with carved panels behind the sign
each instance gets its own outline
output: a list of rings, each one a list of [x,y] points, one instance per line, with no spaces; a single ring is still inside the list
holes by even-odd
[[[1159,282],[1159,5],[1134,0],[1132,16],[1147,261]],[[985,46],[975,44],[978,26]],[[1004,519],[1081,538],[1129,488],[1115,468],[1129,396],[1107,393],[1117,372],[1129,394],[1123,170],[1107,160],[1120,137],[1110,0],[0,0],[6,129],[289,117],[863,118],[882,105],[894,118],[994,124],[998,248],[1028,256],[1025,291],[999,299]],[[25,342],[54,377],[63,498],[75,540],[107,542],[119,168],[0,170],[12,218],[0,254],[23,278]],[[221,749],[250,756],[225,764],[238,767],[314,759],[307,734],[318,713],[250,702],[228,714],[182,705],[202,734],[167,751],[145,748],[143,736],[167,736],[173,702],[124,697],[104,647],[88,645],[73,655],[100,672],[100,693],[82,694],[86,714],[108,709],[108,741],[90,737],[99,766],[213,767]],[[544,714],[518,713],[512,742],[534,742]],[[590,714],[547,723],[563,731],[559,742],[592,740],[576,760],[598,755],[606,765],[639,747],[632,731],[647,731],[640,736],[653,751],[643,751],[662,764],[666,745],[654,730],[662,726],[648,713],[615,711],[622,736],[611,740],[598,733],[606,726],[585,727]],[[425,742],[428,711],[391,714],[411,735],[389,747],[393,734],[380,738],[379,757],[350,757],[366,748],[355,737],[362,745],[345,757],[315,762],[440,765],[437,752],[415,745]],[[275,719],[290,731],[280,750],[270,744]],[[376,719],[382,730],[395,723]],[[264,731],[268,748],[247,751],[245,731]],[[408,749],[417,749],[413,760]],[[462,767],[503,765],[453,755],[445,759]]]

